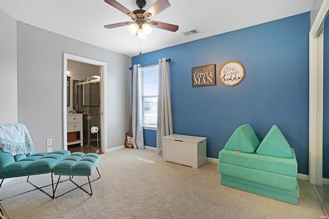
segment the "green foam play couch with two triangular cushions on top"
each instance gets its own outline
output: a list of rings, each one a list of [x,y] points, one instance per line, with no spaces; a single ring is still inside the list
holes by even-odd
[[[276,125],[260,143],[249,124],[238,127],[218,155],[221,184],[297,205],[297,160]]]

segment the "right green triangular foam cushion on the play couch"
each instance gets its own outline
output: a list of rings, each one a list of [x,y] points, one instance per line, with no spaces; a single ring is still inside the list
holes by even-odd
[[[268,131],[256,152],[267,156],[293,157],[289,143],[276,125],[273,125]]]

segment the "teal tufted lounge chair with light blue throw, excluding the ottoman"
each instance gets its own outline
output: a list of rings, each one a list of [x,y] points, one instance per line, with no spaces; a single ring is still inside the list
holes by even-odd
[[[53,167],[70,153],[67,150],[34,153],[34,145],[25,125],[0,125],[0,188],[6,178],[28,176],[28,183],[45,192],[42,190],[45,186],[35,186],[29,182],[29,176],[51,173],[52,194],[45,193],[53,197]]]

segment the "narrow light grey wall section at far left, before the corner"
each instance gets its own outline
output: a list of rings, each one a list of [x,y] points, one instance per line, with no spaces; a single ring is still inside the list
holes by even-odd
[[[17,123],[16,20],[0,9],[0,124]]]

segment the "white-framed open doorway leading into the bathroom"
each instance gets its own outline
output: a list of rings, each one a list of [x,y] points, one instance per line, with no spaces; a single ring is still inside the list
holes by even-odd
[[[64,53],[64,149],[84,153],[106,152],[106,63]],[[70,113],[69,113],[70,112]],[[71,132],[67,115],[79,116],[81,130],[77,138],[81,144],[70,142]],[[80,135],[80,132],[82,133]],[[103,137],[104,136],[104,137]]]

